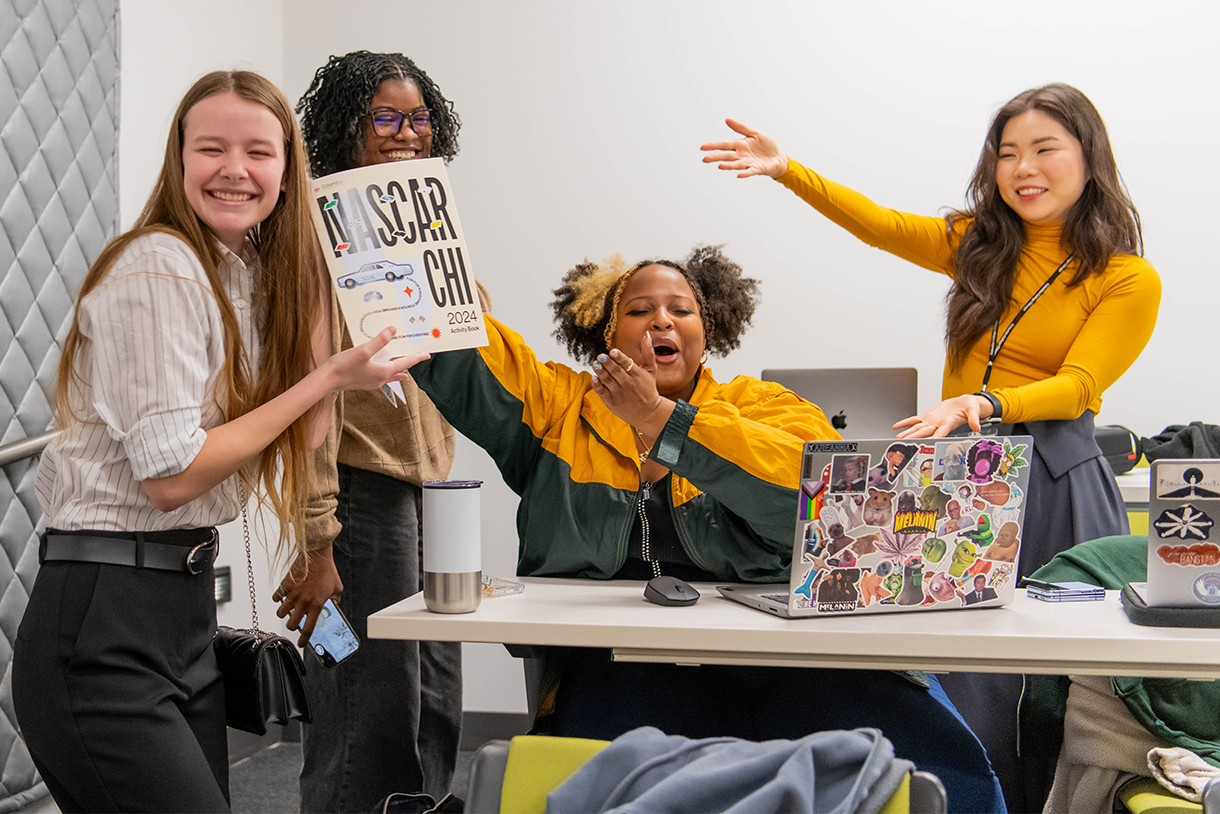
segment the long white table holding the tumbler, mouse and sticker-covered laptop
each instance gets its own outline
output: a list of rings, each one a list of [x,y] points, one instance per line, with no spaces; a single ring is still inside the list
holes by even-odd
[[[415,594],[368,618],[373,638],[612,648],[614,658],[677,664],[1220,679],[1220,630],[1141,627],[1118,592],[1044,603],[1017,591],[1004,608],[787,620],[697,585],[688,608],[643,599],[643,582],[523,578],[526,591],[472,614],[433,614]]]

